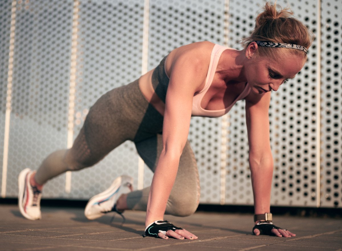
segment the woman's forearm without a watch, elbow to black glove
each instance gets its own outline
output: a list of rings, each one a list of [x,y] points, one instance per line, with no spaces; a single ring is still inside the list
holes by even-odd
[[[176,179],[180,156],[162,151],[149,192],[145,225],[163,219],[166,205]]]

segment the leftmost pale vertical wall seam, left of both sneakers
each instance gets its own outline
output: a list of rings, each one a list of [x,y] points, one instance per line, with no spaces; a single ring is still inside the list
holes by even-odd
[[[15,11],[16,0],[12,1],[11,9],[11,33],[10,33],[10,52],[8,59],[8,77],[7,77],[7,97],[6,97],[6,113],[5,113],[5,131],[3,142],[3,161],[2,161],[2,181],[1,181],[1,197],[6,196],[7,166],[8,166],[8,147],[10,139],[10,119],[12,110],[12,76],[13,76],[13,55],[14,55],[14,31],[15,31]]]

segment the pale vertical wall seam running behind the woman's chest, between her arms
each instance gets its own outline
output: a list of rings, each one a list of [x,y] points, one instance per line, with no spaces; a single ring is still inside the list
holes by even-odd
[[[223,45],[228,47],[229,37],[229,0],[224,1],[224,38]],[[227,167],[227,127],[229,115],[225,114],[221,120],[221,171],[220,171],[220,204],[226,203],[226,167]]]

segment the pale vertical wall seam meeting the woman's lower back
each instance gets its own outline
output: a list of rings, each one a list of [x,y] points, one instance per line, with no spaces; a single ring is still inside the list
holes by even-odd
[[[143,21],[143,46],[141,60],[141,75],[147,72],[148,63],[148,24],[149,24],[149,0],[144,1],[144,21]],[[144,188],[144,160],[139,156],[138,160],[138,190]]]

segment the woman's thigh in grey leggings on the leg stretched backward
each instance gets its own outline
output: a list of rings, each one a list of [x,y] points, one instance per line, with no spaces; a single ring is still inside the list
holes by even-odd
[[[90,108],[68,155],[81,165],[94,165],[124,141],[134,140],[148,106],[138,80],[107,92]]]

